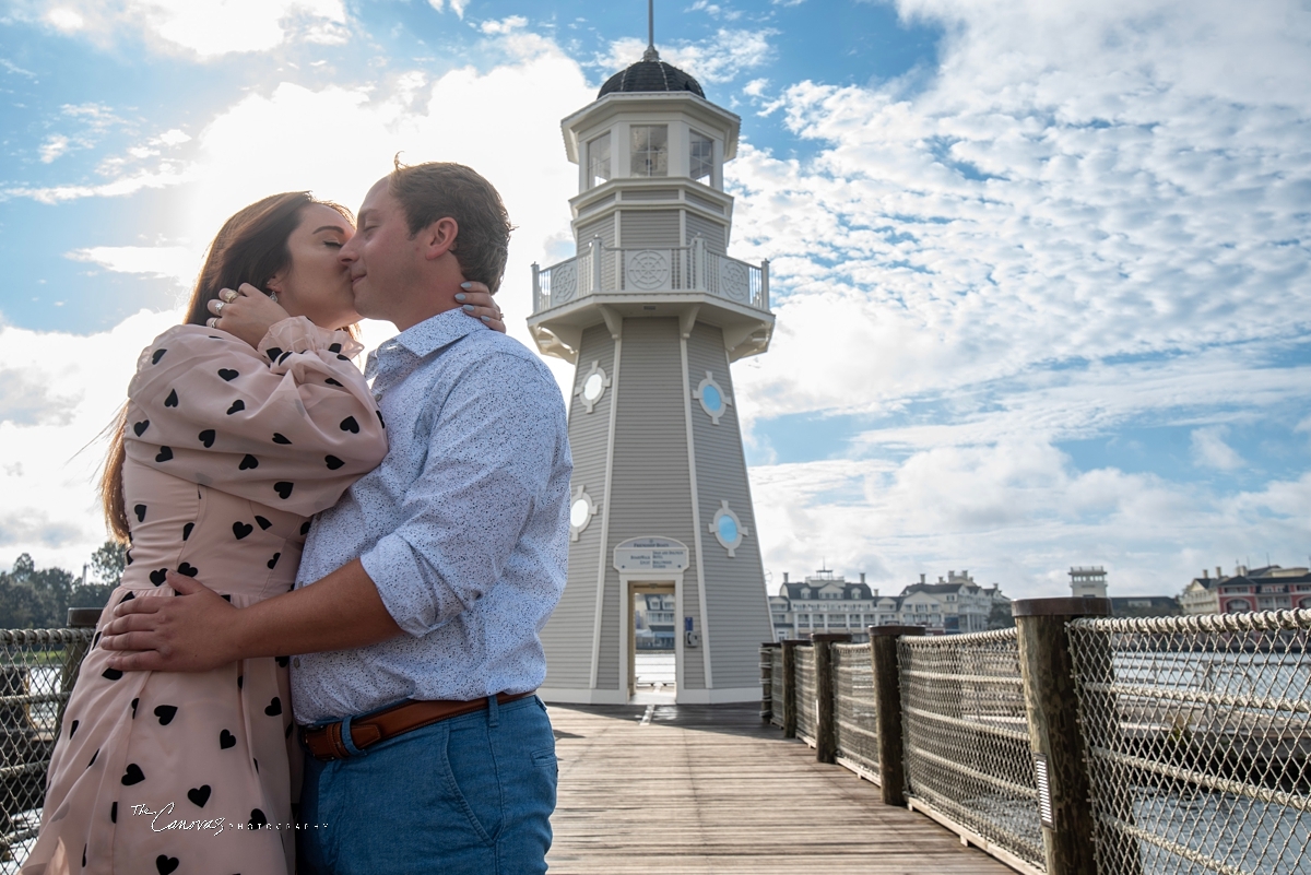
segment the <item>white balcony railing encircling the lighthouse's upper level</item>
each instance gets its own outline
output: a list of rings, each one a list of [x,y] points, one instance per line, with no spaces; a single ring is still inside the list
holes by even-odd
[[[606,246],[594,240],[574,258],[532,266],[534,313],[611,292],[705,292],[768,310],[770,262],[756,266],[711,251],[696,237],[690,246],[671,249]]]

